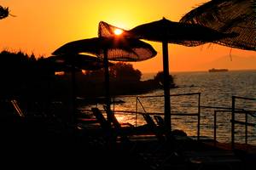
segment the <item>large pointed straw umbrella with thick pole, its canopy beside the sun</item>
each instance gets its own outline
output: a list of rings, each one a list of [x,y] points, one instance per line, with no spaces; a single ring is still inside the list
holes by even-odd
[[[113,35],[115,26],[102,22],[102,37]],[[198,46],[206,42],[214,42],[223,37],[233,37],[234,34],[224,34],[205,26],[172,22],[171,20],[153,21],[137,26],[129,31],[124,31],[126,37],[137,37],[154,42],[162,42],[163,70],[164,70],[164,94],[165,94],[165,123],[166,128],[172,130],[171,123],[171,99],[169,80],[168,43],[176,43],[184,46]]]

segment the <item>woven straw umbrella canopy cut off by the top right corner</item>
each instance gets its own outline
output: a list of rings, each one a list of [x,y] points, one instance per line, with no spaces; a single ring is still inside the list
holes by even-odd
[[[252,0],[212,0],[185,14],[180,22],[199,24],[237,37],[219,39],[216,43],[246,50],[256,50],[255,2]]]

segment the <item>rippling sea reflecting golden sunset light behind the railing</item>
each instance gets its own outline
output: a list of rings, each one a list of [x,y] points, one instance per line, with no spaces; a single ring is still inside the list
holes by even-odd
[[[143,79],[153,78],[154,75],[143,75]],[[172,73],[172,76],[178,88],[172,88],[171,95],[191,94],[171,96],[172,113],[177,115],[172,116],[172,129],[182,129],[189,136],[196,136],[198,116],[193,114],[200,111],[201,136],[213,138],[213,115],[214,111],[217,111],[217,140],[230,142],[232,96],[254,99],[236,99],[235,104],[236,109],[254,111],[254,115],[249,115],[247,119],[248,122],[256,123],[256,71],[179,72]],[[138,97],[119,96],[115,100],[122,100],[124,103],[115,104],[112,108],[117,113],[119,122],[140,125],[145,123],[142,116],[130,113],[119,115],[119,111],[163,114],[163,94],[163,89],[159,89]],[[84,107],[84,110],[90,109],[91,106]],[[181,116],[184,113],[191,116]],[[244,122],[245,115],[237,113],[236,120]],[[247,133],[248,143],[256,144],[256,126],[248,126]],[[245,142],[245,126],[236,125],[235,139],[236,142]]]

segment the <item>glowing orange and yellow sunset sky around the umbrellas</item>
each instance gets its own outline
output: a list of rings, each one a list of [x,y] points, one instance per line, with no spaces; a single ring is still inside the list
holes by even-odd
[[[0,20],[0,50],[21,50],[47,57],[66,42],[97,37],[101,20],[129,30],[162,17],[178,21],[190,9],[205,2],[207,0],[2,0],[0,5],[9,7],[11,14],[17,16]],[[158,55],[133,65],[142,72],[162,71],[161,44],[150,44]],[[234,56],[233,61],[230,54]],[[243,59],[243,65],[235,62],[236,56]],[[253,51],[209,43],[196,48],[169,45],[171,72],[204,71],[207,66],[214,66],[214,60],[223,57],[229,60],[231,69],[256,69],[256,65],[252,65],[252,59],[256,58]]]

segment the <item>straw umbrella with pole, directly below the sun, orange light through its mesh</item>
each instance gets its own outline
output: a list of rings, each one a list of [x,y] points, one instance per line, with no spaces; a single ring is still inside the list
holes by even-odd
[[[94,37],[68,42],[53,54],[95,54],[103,59],[105,68],[105,89],[107,113],[110,114],[108,60],[142,61],[156,55],[154,48],[146,42],[125,37]],[[108,115],[109,117],[109,115]]]

